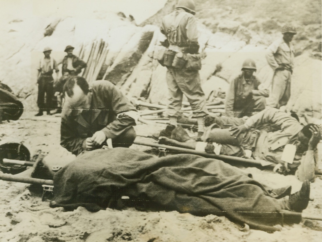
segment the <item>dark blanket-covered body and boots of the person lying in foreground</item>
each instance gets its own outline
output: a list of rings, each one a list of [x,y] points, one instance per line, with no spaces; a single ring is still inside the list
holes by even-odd
[[[176,210],[197,216],[226,216],[250,228],[276,231],[301,216],[308,206],[310,184],[269,189],[251,174],[220,160],[192,154],[155,157],[128,148],[84,152],[54,175],[51,207],[90,211],[135,207],[149,211]],[[122,200],[122,196],[129,199]],[[295,215],[294,215],[295,214]]]

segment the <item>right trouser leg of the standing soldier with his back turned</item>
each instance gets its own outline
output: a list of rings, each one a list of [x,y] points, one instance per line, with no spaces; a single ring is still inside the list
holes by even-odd
[[[204,91],[200,84],[198,70],[176,70],[171,69],[180,90],[188,98],[193,111],[193,118],[203,117],[208,114]]]

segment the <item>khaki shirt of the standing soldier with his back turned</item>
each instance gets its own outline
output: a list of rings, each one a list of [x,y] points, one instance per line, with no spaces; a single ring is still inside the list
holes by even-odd
[[[176,41],[170,39],[169,31],[172,29],[173,24],[176,22],[180,15],[184,14],[176,33]],[[185,12],[183,9],[176,9],[171,14],[166,15],[160,27],[161,33],[166,35],[170,45],[176,45],[179,47],[186,47],[189,42],[198,42],[198,30],[197,21],[194,15]]]

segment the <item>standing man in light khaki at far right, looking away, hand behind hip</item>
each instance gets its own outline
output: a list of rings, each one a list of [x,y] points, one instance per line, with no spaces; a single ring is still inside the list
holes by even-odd
[[[283,38],[268,47],[266,59],[275,71],[272,81],[272,92],[267,105],[279,108],[289,101],[291,95],[291,75],[293,73],[294,48],[291,43],[296,34],[294,27],[285,25]]]

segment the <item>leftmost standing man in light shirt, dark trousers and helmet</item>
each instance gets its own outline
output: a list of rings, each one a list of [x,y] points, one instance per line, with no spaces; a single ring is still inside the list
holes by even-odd
[[[39,107],[39,112],[35,116],[42,116],[43,110],[47,111],[48,115],[51,115],[50,110],[52,107],[52,99],[54,95],[52,73],[55,70],[56,76],[58,75],[58,66],[56,61],[50,56],[52,49],[46,47],[43,50],[45,55],[39,62],[38,67],[38,98],[37,105]],[[45,93],[46,93],[46,103],[45,103]]]

